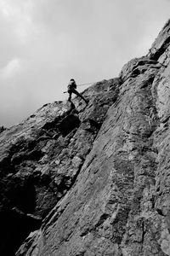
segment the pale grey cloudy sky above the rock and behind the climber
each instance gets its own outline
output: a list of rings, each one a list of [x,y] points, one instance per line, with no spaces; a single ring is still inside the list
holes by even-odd
[[[70,79],[117,77],[147,54],[169,9],[170,0],[0,0],[0,125],[65,101]]]

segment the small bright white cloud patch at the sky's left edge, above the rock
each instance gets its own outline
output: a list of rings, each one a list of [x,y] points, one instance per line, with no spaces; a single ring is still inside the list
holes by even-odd
[[[13,59],[0,70],[1,78],[10,79],[13,78],[16,73],[19,73],[21,69],[21,61],[19,59]]]

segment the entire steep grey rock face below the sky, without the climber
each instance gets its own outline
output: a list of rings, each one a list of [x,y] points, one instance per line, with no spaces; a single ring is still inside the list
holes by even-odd
[[[87,107],[47,104],[0,134],[0,255],[170,255],[169,61],[167,21]]]

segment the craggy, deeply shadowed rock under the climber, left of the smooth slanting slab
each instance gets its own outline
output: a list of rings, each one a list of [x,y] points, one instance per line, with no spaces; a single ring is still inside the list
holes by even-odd
[[[120,79],[104,80],[86,90],[87,107],[77,98],[75,105],[46,104],[0,134],[0,255],[14,255],[70,191],[119,84]]]

